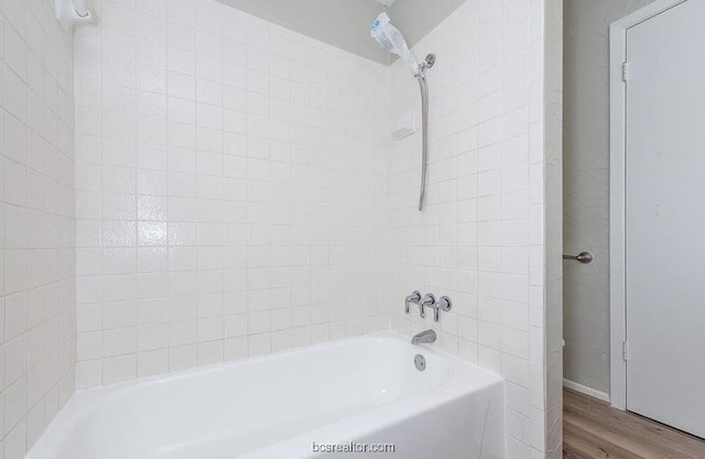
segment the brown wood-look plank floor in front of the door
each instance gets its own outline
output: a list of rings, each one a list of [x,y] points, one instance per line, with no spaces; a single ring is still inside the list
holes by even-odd
[[[564,459],[704,459],[705,440],[564,391]]]

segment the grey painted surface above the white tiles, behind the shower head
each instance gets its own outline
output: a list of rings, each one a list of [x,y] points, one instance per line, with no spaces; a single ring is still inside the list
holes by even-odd
[[[293,30],[380,64],[397,59],[370,37],[382,11],[416,44],[465,0],[218,0],[246,13]]]

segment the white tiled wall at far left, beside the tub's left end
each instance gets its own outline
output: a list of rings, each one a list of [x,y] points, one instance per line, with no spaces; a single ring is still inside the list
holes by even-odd
[[[74,391],[73,39],[53,2],[0,0],[0,457]]]

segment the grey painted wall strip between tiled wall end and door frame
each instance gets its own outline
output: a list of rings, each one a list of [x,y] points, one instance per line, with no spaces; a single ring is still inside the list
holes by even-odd
[[[609,392],[609,24],[649,0],[565,2],[565,378]]]

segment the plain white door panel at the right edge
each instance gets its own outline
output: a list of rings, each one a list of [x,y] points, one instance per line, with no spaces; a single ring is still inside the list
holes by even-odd
[[[627,409],[705,437],[705,0],[627,31]]]

